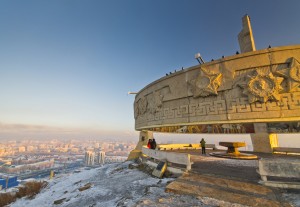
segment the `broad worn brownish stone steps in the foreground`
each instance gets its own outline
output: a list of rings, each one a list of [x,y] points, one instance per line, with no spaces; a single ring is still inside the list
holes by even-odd
[[[188,173],[166,187],[167,192],[209,197],[232,204],[262,207],[288,207],[278,200],[268,187],[258,184],[220,178],[212,175]]]

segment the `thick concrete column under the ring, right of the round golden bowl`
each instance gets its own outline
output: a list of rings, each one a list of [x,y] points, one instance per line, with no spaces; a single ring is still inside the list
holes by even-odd
[[[278,146],[277,134],[269,134],[266,123],[255,123],[255,133],[251,134],[254,152],[272,153],[273,147]]]

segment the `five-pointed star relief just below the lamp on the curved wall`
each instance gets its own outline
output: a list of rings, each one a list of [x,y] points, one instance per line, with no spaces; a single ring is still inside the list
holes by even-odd
[[[194,98],[218,95],[218,88],[222,82],[222,74],[208,73],[205,69],[200,69],[200,74],[189,83],[192,86]]]

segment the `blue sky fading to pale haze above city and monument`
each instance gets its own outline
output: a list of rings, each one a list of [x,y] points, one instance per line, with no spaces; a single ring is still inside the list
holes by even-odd
[[[130,91],[239,50],[300,43],[300,1],[2,0],[0,138],[137,136]],[[112,133],[114,131],[114,133]]]

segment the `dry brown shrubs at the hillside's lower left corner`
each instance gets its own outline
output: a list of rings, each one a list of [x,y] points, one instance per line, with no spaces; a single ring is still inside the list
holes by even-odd
[[[27,182],[24,186],[18,187],[16,193],[1,193],[0,194],[0,207],[15,202],[18,198],[28,197],[32,199],[38,194],[44,187],[47,186],[47,182]]]

